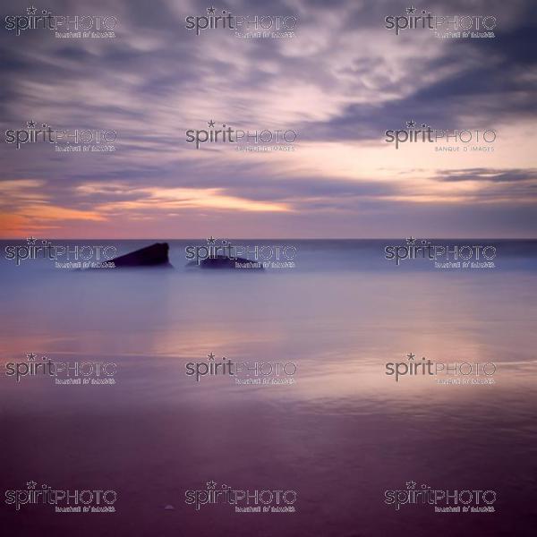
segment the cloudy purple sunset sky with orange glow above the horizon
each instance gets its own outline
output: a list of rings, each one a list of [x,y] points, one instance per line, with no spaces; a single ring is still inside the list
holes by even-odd
[[[416,14],[494,16],[494,38],[386,28],[386,17],[414,5]],[[414,5],[4,0],[0,236],[537,237],[533,2]],[[27,7],[115,17],[115,37],[60,38],[41,28],[17,36],[5,17],[23,17]],[[186,28],[185,18],[210,7],[287,17],[294,33]],[[196,149],[186,132],[210,130],[212,121],[215,129],[292,131],[296,140],[269,151]],[[385,132],[409,121],[493,131],[496,140],[475,144],[482,151],[460,141],[396,149]],[[16,149],[8,132],[27,122],[114,131],[115,150],[66,152],[47,142]],[[437,150],[446,146],[454,150]]]

